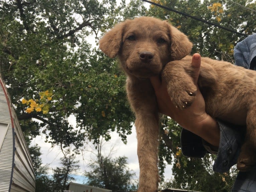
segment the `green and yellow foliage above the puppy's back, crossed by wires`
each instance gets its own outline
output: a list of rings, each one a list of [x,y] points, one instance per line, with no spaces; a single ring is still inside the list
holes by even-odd
[[[254,12],[241,8],[238,4],[228,0],[157,0],[156,2],[197,18],[238,30],[247,35],[253,34],[256,29],[255,22],[252,22],[254,21]],[[236,2],[254,9],[256,7],[255,2],[252,3],[251,0],[239,0]],[[171,22],[173,26],[184,32],[193,42],[192,53],[199,52],[202,56],[233,62],[234,45],[245,38],[154,5],[150,7],[148,15]]]

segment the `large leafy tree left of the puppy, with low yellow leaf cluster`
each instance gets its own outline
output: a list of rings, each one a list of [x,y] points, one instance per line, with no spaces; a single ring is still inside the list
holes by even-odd
[[[114,0],[0,2],[0,74],[27,138],[42,133],[46,142],[63,148],[72,144],[77,152],[85,138],[109,139],[115,130],[126,141],[134,117],[124,74],[116,60],[85,39],[95,35],[97,41],[123,13],[144,13],[140,5],[122,1],[116,6]],[[71,115],[77,128],[68,122]]]

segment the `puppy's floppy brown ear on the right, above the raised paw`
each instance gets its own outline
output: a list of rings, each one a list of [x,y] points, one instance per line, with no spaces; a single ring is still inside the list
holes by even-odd
[[[169,25],[171,37],[171,60],[180,60],[191,52],[193,44],[177,28]]]

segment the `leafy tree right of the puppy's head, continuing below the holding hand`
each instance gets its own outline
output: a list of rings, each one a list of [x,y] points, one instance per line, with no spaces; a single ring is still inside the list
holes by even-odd
[[[256,24],[251,20],[255,15],[255,2],[239,0],[231,1],[154,1],[166,7],[195,16],[200,19],[220,24],[237,30],[246,35],[254,33]],[[239,10],[239,11],[235,11]],[[167,11],[151,5],[148,15],[168,20],[173,26],[184,32],[193,42],[192,53],[199,52],[202,56],[222,59],[234,63],[233,48],[238,41],[245,37],[224,29],[208,25],[192,18]],[[206,155],[202,159],[187,158],[181,154],[181,127],[171,119],[163,118],[161,123],[161,137],[159,139],[159,168],[163,174],[166,163],[172,164],[174,179],[165,187],[174,187],[196,191],[230,191],[237,174],[236,168],[228,173],[219,174],[212,171],[215,156]],[[163,177],[162,177],[163,179]]]

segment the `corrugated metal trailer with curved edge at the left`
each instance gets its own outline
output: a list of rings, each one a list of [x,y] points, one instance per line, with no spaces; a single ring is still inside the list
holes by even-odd
[[[34,192],[35,174],[28,147],[0,77],[0,192]]]

